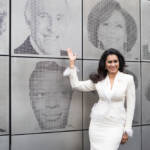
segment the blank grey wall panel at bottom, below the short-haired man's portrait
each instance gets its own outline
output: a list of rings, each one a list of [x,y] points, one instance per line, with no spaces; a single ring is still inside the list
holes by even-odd
[[[82,150],[81,132],[20,135],[12,137],[12,150]]]

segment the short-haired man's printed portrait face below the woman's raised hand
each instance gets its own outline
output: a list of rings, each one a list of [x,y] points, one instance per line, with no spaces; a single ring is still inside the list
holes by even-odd
[[[30,80],[30,101],[42,130],[61,129],[67,125],[72,90],[64,67],[56,62],[36,64]]]

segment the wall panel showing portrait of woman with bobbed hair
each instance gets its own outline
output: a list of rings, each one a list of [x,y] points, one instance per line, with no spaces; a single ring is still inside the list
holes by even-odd
[[[99,59],[104,50],[115,48],[127,60],[139,60],[139,0],[83,2],[84,58]]]

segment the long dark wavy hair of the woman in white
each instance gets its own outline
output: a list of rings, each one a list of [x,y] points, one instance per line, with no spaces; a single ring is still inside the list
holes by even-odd
[[[93,83],[97,83],[98,81],[102,81],[107,76],[107,70],[105,69],[105,63],[108,55],[116,55],[119,59],[119,71],[123,72],[126,66],[125,59],[123,55],[116,49],[110,48],[106,50],[100,60],[97,69],[97,73],[91,74],[89,78],[93,81]]]

